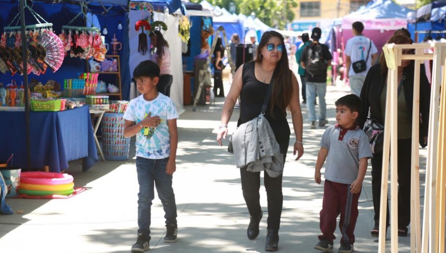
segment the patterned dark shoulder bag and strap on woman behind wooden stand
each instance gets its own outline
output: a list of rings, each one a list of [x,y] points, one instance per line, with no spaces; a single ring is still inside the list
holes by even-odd
[[[402,84],[404,79],[406,79],[406,72],[401,76],[401,81],[398,84],[398,95],[401,92]],[[378,120],[370,118],[370,110],[369,115],[367,116],[367,120],[364,123],[364,127],[362,128],[364,132],[369,137],[369,143],[372,147],[372,153],[381,154],[383,153],[384,148],[384,126],[381,125]]]

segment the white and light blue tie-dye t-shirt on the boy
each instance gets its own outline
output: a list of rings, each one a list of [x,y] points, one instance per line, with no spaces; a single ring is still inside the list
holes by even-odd
[[[158,93],[152,101],[146,101],[143,95],[132,99],[124,113],[124,120],[133,121],[137,125],[148,113],[159,116],[161,124],[158,127],[144,127],[136,134],[136,156],[149,159],[163,159],[170,154],[170,135],[168,120],[178,118],[175,105],[169,97]]]

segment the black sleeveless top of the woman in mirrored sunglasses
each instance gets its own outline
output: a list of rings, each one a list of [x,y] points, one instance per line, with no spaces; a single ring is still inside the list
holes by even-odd
[[[254,62],[244,63],[242,71],[242,89],[240,92],[240,118],[237,126],[251,121],[262,112],[263,101],[268,90],[268,83],[257,80],[254,73]],[[271,99],[265,112],[265,118],[273,128],[274,135],[280,145],[281,153],[286,153],[289,142],[290,129],[286,114],[278,107],[274,106],[274,117],[271,115]]]

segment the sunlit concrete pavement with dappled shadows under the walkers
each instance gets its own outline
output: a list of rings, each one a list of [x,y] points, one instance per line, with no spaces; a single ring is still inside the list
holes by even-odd
[[[348,91],[345,87],[328,87],[329,124],[335,123],[334,101]],[[260,235],[249,241],[246,237],[249,214],[241,193],[239,171],[231,154],[215,140],[215,127],[220,124],[222,106],[223,98],[217,98],[215,105],[199,106],[197,112],[186,106],[186,111],[180,116],[177,171],[174,174],[178,241],[174,244],[163,242],[164,211],[156,197],[152,208],[149,252],[265,252],[265,188],[262,183],[261,204],[265,215]],[[318,144],[325,127],[310,129],[307,109],[304,107],[302,111],[305,154],[296,162],[290,147],[283,175],[284,201],[279,231],[279,252],[282,253],[319,252],[313,247],[320,233],[323,185],[314,183],[313,175]],[[238,110],[235,110],[229,123],[230,132],[235,129],[237,118]],[[292,133],[290,142],[294,139]],[[134,149],[132,142],[127,161],[97,162],[87,172],[81,171],[80,161],[71,162],[68,173],[73,175],[75,187],[88,190],[70,199],[7,199],[15,212],[23,210],[23,214],[0,215],[0,252],[130,252],[137,230],[138,183]],[[424,168],[425,157],[426,149],[422,149],[421,168]],[[421,170],[420,181],[424,182],[424,170]],[[370,163],[363,186],[355,230],[355,252],[373,253],[378,252],[378,243],[370,236],[373,227]],[[424,195],[424,189],[420,195]],[[334,252],[337,252],[338,229],[335,235]],[[409,237],[399,238],[399,252],[409,252],[409,246]],[[390,241],[387,249],[390,252]]]

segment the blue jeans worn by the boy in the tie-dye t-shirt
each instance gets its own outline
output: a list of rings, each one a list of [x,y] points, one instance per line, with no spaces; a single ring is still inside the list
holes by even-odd
[[[166,165],[169,158],[147,159],[136,157],[136,172],[138,174],[138,234],[143,234],[150,240],[150,220],[152,200],[155,197],[154,185],[158,197],[163,204],[167,225],[176,225],[175,194],[172,189],[172,175],[167,175]]]

